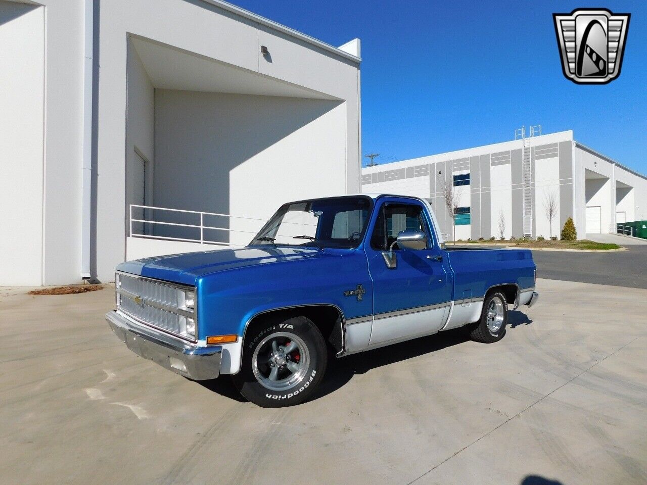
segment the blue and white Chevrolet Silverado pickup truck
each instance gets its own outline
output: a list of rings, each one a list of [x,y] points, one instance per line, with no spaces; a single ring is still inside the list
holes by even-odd
[[[425,200],[347,195],[284,204],[245,248],[119,264],[106,319],[140,356],[280,407],[329,358],[457,327],[498,341],[535,279],[529,250],[446,247]]]

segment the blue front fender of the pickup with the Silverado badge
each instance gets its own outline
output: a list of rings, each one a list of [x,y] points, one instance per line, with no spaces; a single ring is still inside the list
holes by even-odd
[[[362,290],[359,299],[356,293],[344,295],[358,285]],[[228,373],[226,367],[231,373],[239,371],[236,360],[242,353],[241,343],[249,323],[259,315],[311,305],[338,308],[344,319],[373,312],[373,286],[361,250],[204,275],[197,281],[197,291],[199,338],[239,336],[236,343],[223,345],[223,373]]]

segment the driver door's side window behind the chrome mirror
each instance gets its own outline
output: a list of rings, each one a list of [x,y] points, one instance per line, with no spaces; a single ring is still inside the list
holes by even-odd
[[[371,235],[371,248],[377,251],[388,251],[397,239],[398,233],[404,230],[423,231],[430,240],[422,207],[417,204],[385,204],[380,208]],[[397,244],[394,249],[399,249]]]

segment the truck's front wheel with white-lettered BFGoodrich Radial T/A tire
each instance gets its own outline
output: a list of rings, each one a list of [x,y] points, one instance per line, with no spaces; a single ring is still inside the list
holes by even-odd
[[[327,365],[325,341],[305,317],[268,320],[247,331],[236,387],[261,407],[283,407],[307,400]]]

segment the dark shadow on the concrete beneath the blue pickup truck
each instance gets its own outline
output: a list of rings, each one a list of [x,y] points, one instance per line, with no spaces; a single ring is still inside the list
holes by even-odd
[[[514,329],[520,325],[530,325],[532,323],[531,319],[518,310],[510,311],[508,318],[509,329]],[[355,374],[365,374],[368,371],[383,367],[384,365],[409,360],[469,340],[470,336],[468,332],[461,328],[439,332],[428,337],[395,343],[387,347],[360,352],[359,354],[353,354],[340,359],[329,357],[325,378],[310,400],[313,401],[327,396],[327,394],[334,393],[334,391],[350,382]],[[229,376],[197,382],[206,387],[206,389],[221,394],[221,396],[231,398],[238,402],[247,402],[238,392]]]

